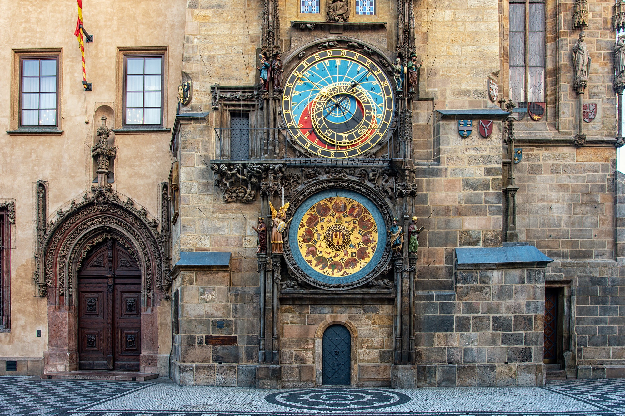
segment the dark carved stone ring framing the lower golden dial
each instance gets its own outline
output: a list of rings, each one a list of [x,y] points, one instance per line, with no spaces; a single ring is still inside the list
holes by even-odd
[[[392,209],[392,204],[386,197],[379,194],[376,189],[368,186],[367,184],[359,181],[359,178],[352,176],[345,176],[341,178],[332,178],[326,177],[320,179],[319,182],[314,184],[302,184],[297,187],[294,191],[295,196],[291,199],[291,206],[289,210],[287,210],[287,217],[291,218],[294,214],[297,207],[302,204],[306,199],[311,196],[314,196],[318,192],[327,191],[329,189],[348,189],[351,191],[356,191],[363,196],[371,199],[371,201],[376,205],[376,207],[380,210],[382,217],[384,218],[384,230],[380,232],[386,232],[386,229],[391,224],[391,218],[394,217],[394,210]],[[288,227],[292,227],[296,225],[289,224]],[[288,235],[289,228],[284,231],[285,235]],[[297,246],[296,246],[297,249]],[[375,279],[379,274],[385,272],[389,263],[391,262],[391,240],[387,239],[386,246],[384,247],[384,252],[382,254],[382,258],[379,263],[374,267],[371,272],[362,277],[355,282],[351,282],[348,284],[326,284],[324,282],[319,282],[318,280],[312,279],[309,277],[296,263],[291,247],[289,245],[289,239],[286,239],[284,242],[284,256],[286,257],[286,264],[291,269],[293,274],[295,274],[299,279],[304,282],[311,284],[314,287],[319,287],[321,289],[326,290],[346,290],[346,289],[354,289],[355,287],[359,287],[361,285],[370,282]]]

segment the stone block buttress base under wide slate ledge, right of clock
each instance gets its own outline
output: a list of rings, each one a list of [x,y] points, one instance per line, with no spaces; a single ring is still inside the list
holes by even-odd
[[[419,387],[543,385],[544,269],[456,270],[455,280],[454,291],[416,292]]]

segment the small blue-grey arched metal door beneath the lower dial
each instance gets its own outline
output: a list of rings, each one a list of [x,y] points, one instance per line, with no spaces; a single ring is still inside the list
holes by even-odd
[[[351,335],[343,325],[323,333],[323,384],[349,385],[351,381]]]

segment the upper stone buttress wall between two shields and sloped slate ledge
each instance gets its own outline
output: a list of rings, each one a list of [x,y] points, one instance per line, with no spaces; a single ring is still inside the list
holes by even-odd
[[[463,139],[456,119],[438,119],[434,141],[440,165],[417,167],[415,212],[417,224],[425,227],[419,235],[419,290],[453,289],[455,247],[501,245],[502,123],[493,121],[493,132],[484,139],[477,122],[473,119],[473,132]]]

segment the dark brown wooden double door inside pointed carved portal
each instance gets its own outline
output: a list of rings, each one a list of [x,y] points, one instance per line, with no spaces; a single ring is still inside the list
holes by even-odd
[[[118,240],[86,256],[78,272],[79,369],[139,370],[141,269]]]

